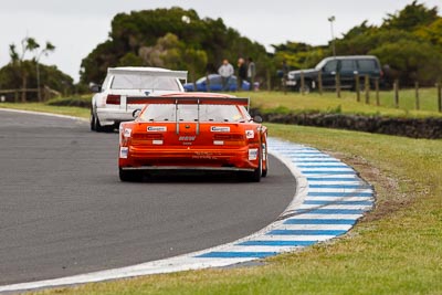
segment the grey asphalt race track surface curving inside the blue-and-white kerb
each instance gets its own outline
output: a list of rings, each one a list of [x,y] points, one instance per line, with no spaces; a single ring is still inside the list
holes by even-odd
[[[175,256],[273,222],[295,181],[271,158],[260,183],[169,176],[123,183],[117,134],[0,110],[0,285]]]

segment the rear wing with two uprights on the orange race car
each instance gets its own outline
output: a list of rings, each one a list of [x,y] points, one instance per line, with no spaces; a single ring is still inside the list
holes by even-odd
[[[198,105],[197,118],[197,135],[200,134],[200,105],[240,105],[250,108],[250,98],[239,97],[198,97],[198,96],[181,96],[181,97],[165,97],[165,96],[148,96],[134,97],[128,96],[127,102],[130,104],[166,104],[175,105],[175,118],[177,124],[177,135],[179,134],[178,105]]]

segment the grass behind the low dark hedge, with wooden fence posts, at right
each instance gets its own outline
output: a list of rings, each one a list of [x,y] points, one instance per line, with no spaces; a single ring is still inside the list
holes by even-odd
[[[438,112],[438,94],[435,88],[420,91],[420,110],[414,109],[414,89],[400,92],[399,108],[394,107],[393,92],[380,92],[380,106],[376,106],[375,92],[370,93],[370,104],[365,103],[364,93],[361,101],[356,101],[355,92],[343,92],[341,98],[337,98],[333,92],[309,93],[302,95],[295,92],[241,92],[238,96],[250,96],[252,106],[264,110],[285,110],[294,113],[343,113],[360,115],[379,115],[388,117],[441,117]]]

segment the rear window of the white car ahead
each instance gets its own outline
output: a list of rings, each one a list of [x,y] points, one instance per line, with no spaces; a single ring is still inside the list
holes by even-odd
[[[110,88],[180,91],[178,82],[173,77],[136,75],[136,74],[115,74]]]

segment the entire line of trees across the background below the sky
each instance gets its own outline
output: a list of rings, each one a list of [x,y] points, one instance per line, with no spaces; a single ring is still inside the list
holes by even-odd
[[[442,80],[442,18],[438,8],[412,1],[402,10],[387,14],[380,25],[366,20],[335,40],[337,55],[372,54],[385,65],[385,72],[401,85],[433,85]],[[252,57],[256,63],[256,80],[277,81],[276,70],[285,61],[291,70],[315,66],[333,55],[330,44],[313,46],[299,42],[273,45],[274,53],[228,28],[222,19],[200,18],[190,9],[155,9],[118,13],[112,20],[108,39],[98,44],[81,64],[81,81],[85,89],[91,82],[101,83],[112,66],[160,66],[188,70],[197,80],[215,73],[223,59],[233,63],[239,57]],[[41,81],[65,92],[74,85],[72,78],[55,66],[39,63],[41,54],[55,48],[40,46],[27,39],[22,52],[11,44],[11,62],[0,69],[0,88],[36,87],[40,65]],[[25,60],[25,53],[33,57]],[[274,83],[273,83],[274,84]]]

